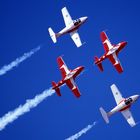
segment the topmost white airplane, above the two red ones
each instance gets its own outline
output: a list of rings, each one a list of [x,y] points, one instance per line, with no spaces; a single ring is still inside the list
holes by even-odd
[[[82,45],[82,43],[81,43],[81,39],[80,39],[80,36],[79,36],[77,30],[83,23],[85,23],[85,21],[87,20],[88,17],[81,17],[76,20],[73,20],[66,7],[62,8],[61,12],[62,12],[66,27],[63,28],[58,33],[54,33],[52,28],[49,27],[48,31],[49,31],[50,37],[52,38],[52,41],[54,43],[56,43],[58,37],[66,34],[66,33],[70,33],[70,36],[71,36],[72,40],[74,41],[75,45],[77,47],[80,47]]]

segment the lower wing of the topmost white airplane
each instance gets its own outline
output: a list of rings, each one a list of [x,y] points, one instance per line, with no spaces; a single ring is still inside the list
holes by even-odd
[[[77,47],[82,46],[82,42],[81,42],[80,36],[77,31],[70,33],[70,36]]]

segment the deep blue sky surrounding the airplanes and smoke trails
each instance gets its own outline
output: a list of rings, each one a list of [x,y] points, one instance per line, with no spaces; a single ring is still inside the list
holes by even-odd
[[[0,1],[0,66],[41,45],[41,50],[18,67],[0,77],[0,116],[24,104],[26,99],[59,81],[61,75],[56,58],[63,59],[70,69],[85,66],[85,72],[76,79],[82,93],[76,99],[67,87],[61,89],[62,97],[49,97],[29,113],[9,124],[0,132],[1,140],[62,140],[77,133],[88,124],[98,121],[81,140],[139,139],[140,125],[130,128],[121,114],[110,118],[106,125],[99,107],[109,111],[115,101],[110,85],[115,83],[124,97],[140,92],[139,63],[139,1],[91,1],[91,0],[24,0]],[[88,16],[80,28],[83,42],[76,48],[69,35],[53,44],[48,27],[57,32],[64,27],[61,8],[66,6],[73,19]],[[104,53],[100,32],[107,30],[110,41],[115,44],[128,41],[120,52],[124,68],[118,74],[109,61],[104,61],[104,72],[93,64],[95,55]],[[140,101],[132,107],[135,120],[139,119]]]

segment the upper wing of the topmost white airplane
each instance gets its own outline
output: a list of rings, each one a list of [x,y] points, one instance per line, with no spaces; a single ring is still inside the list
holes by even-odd
[[[62,11],[62,15],[63,15],[63,18],[64,18],[65,25],[67,27],[73,22],[73,20],[72,20],[72,18],[71,18],[71,16],[70,16],[66,7],[62,8],[61,11]]]

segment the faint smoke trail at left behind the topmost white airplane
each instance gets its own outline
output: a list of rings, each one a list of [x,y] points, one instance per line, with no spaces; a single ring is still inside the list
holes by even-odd
[[[23,56],[17,58],[16,60],[12,61],[10,64],[3,66],[0,69],[0,75],[6,74],[8,71],[12,70],[14,67],[18,66],[21,62],[26,60],[27,58],[31,57],[35,52],[40,50],[40,46],[32,49],[30,52],[24,53]]]

